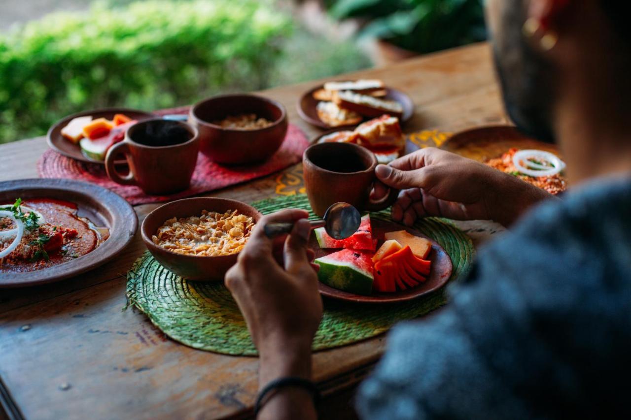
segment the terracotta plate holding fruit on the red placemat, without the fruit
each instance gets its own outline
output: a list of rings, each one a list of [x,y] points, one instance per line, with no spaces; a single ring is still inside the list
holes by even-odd
[[[105,109],[97,109],[91,111],[83,111],[78,112],[77,114],[68,115],[68,117],[59,120],[52,127],[50,127],[48,134],[46,135],[46,140],[51,149],[54,149],[57,153],[61,153],[64,156],[68,156],[69,158],[73,158],[76,160],[88,162],[88,163],[98,163],[100,165],[105,165],[105,163],[101,160],[94,160],[88,158],[87,156],[81,153],[81,147],[79,144],[74,144],[68,139],[64,138],[61,135],[61,129],[66,127],[70,120],[76,117],[83,117],[85,115],[91,115],[93,119],[97,118],[107,118],[111,120],[114,118],[115,114],[125,114],[127,117],[130,117],[134,120],[145,120],[148,118],[153,118],[156,115],[151,114],[150,112],[139,111],[135,109],[129,108],[105,108]],[[117,164],[124,165],[126,163],[125,160],[117,160]]]

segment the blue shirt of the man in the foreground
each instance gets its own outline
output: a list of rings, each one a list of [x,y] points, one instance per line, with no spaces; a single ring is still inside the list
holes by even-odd
[[[547,202],[388,337],[366,419],[631,418],[631,178]]]

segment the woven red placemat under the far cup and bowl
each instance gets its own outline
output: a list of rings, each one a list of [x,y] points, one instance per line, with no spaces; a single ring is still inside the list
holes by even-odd
[[[186,114],[187,110],[188,107],[182,107],[174,110],[162,110],[155,114]],[[264,177],[298,163],[302,160],[302,152],[307,146],[309,146],[309,140],[304,132],[290,124],[285,141],[278,152],[268,161],[259,165],[222,166],[199,153],[191,187],[186,191],[171,195],[147,195],[139,187],[116,184],[107,177],[105,166],[74,160],[59,155],[52,149],[47,150],[37,162],[37,172],[40,178],[69,178],[91,182],[116,192],[130,204],[144,204],[190,197]]]

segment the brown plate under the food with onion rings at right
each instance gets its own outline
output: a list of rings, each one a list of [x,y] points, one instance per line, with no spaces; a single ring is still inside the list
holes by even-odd
[[[440,148],[480,162],[498,158],[510,148],[540,149],[559,155],[554,144],[524,136],[512,125],[492,125],[461,131],[445,141]]]

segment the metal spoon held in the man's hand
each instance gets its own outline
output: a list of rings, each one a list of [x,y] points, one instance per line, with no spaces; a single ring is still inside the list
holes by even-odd
[[[326,233],[333,239],[346,239],[357,232],[362,223],[362,215],[350,204],[336,202],[326,209],[324,219],[310,220],[309,223],[314,229],[324,226]],[[263,229],[268,238],[273,238],[283,233],[290,233],[293,229],[293,223],[268,223]]]

